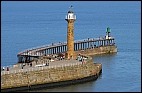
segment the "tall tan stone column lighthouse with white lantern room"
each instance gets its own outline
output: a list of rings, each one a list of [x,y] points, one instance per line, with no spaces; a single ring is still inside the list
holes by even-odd
[[[73,59],[75,57],[74,53],[74,21],[76,20],[76,15],[72,11],[72,6],[70,6],[69,11],[65,17],[67,21],[67,52],[66,58]]]

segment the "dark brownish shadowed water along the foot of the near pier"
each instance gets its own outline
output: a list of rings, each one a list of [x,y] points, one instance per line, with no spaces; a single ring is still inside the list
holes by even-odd
[[[100,74],[100,76],[101,76],[101,74]],[[99,79],[100,76],[97,79]],[[50,87],[50,88],[25,90],[24,92],[80,92],[80,91],[85,92],[85,91],[89,91],[88,89],[90,88],[90,86],[94,87],[95,82],[96,82],[96,80],[75,83],[75,84],[70,84],[70,85],[62,85],[62,86],[58,86],[58,87],[56,86],[56,87]]]

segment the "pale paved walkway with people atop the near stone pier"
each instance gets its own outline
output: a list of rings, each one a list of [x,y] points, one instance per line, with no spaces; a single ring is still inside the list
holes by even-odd
[[[85,62],[87,62],[88,58],[84,58],[83,61],[79,60],[54,60],[54,61],[49,61],[47,59],[38,59],[38,62],[31,62],[32,66],[29,63],[18,63],[16,65],[13,65],[13,67],[9,67],[8,71],[7,68],[5,70],[1,70],[1,76],[4,74],[10,74],[10,73],[18,73],[18,72],[28,72],[28,71],[35,71],[35,70],[42,70],[42,69],[48,69],[48,68],[57,68],[57,67],[64,67],[64,66],[73,66],[73,65],[80,65]],[[24,65],[24,66],[23,66]]]

